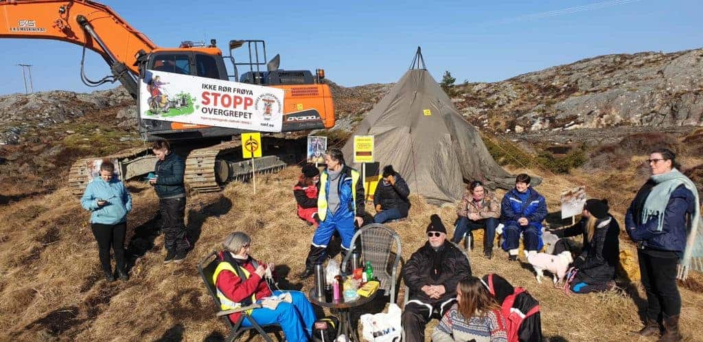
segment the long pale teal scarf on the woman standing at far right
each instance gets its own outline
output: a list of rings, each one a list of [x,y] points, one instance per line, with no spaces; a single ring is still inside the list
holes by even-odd
[[[662,225],[664,224],[664,212],[666,212],[666,205],[669,204],[671,193],[681,185],[690,190],[695,197],[695,208],[693,215],[690,217],[690,226],[686,227],[688,236],[686,237],[686,247],[683,251],[683,258],[681,258],[679,262],[678,278],[686,279],[691,267],[698,272],[703,272],[703,241],[702,239],[696,239],[697,235],[703,235],[703,227],[700,225],[700,200],[698,198],[698,189],[696,189],[695,184],[693,184],[688,177],[676,169],[662,175],[652,175],[651,179],[657,183],[657,185],[652,188],[652,191],[645,200],[641,222],[647,222],[647,220],[654,215],[657,217],[657,232],[661,232]],[[692,261],[693,265],[691,265]]]

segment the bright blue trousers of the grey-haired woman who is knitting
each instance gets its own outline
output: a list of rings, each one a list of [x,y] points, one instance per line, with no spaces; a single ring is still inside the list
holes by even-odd
[[[312,304],[300,291],[285,292],[290,293],[292,303],[279,303],[276,310],[254,309],[252,317],[259,324],[280,324],[286,341],[308,341],[312,335],[312,324],[316,320]],[[283,291],[273,291],[273,295],[280,293]],[[247,318],[242,321],[242,325],[252,327],[252,323]]]

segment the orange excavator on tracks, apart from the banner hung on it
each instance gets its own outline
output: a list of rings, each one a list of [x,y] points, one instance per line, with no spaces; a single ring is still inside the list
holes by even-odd
[[[214,39],[209,44],[183,42],[177,48],[162,48],[151,42],[108,6],[89,0],[0,0],[0,38],[55,39],[84,48],[81,80],[89,86],[119,81],[138,101],[138,84],[146,70],[176,72],[185,75],[233,80],[276,87],[285,91],[282,133],[263,139],[266,156],[256,160],[257,172],[271,172],[285,167],[285,160],[295,150],[285,132],[325,129],[335,125],[335,110],[327,84],[321,81],[324,70],[281,70],[280,56],[267,61],[266,43],[262,40],[231,40],[229,56],[224,56]],[[249,59],[238,62],[233,51],[248,48]],[[90,80],[84,73],[85,50],[103,57],[112,75]],[[233,66],[228,74],[226,62]],[[239,74],[239,68],[246,72]],[[248,69],[248,70],[247,70]],[[239,129],[209,127],[142,118],[137,110],[142,139],[169,139],[174,151],[186,158],[186,184],[193,191],[219,191],[223,184],[251,175],[252,165],[241,160]],[[123,179],[144,175],[153,170],[155,157],[148,149],[123,151],[100,159],[117,160]],[[69,186],[82,193],[91,179],[92,161],[77,160],[71,167]]]

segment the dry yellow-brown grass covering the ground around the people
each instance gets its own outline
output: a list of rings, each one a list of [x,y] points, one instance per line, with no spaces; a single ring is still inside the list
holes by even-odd
[[[636,163],[631,163],[630,175],[636,174]],[[546,196],[550,212],[558,210],[556,203],[563,189],[593,184],[588,188],[589,196],[610,196],[617,213],[624,213],[626,199],[632,196],[628,191],[641,184],[638,177],[629,176],[617,188],[628,190],[619,193],[603,185],[615,174],[576,171],[557,177],[536,173],[544,178],[538,191]],[[297,284],[292,275],[302,269],[314,232],[295,215],[291,187],[296,175],[297,168],[289,167],[275,175],[257,177],[257,196],[250,184],[236,183],[221,194],[189,197],[188,228],[200,230],[200,236],[182,265],[162,265],[163,238],[155,237],[153,245],[149,239],[155,236],[157,198],[148,186],[130,184],[134,199],[128,227],[130,251],[143,251],[143,255],[134,262],[126,283],[106,284],[102,279],[97,246],[86,223],[88,214],[66,189],[0,207],[0,340],[153,341],[182,337],[203,341],[226,336],[225,324],[214,318],[214,305],[196,265],[229,232],[247,232],[257,258],[290,267],[290,272],[280,272],[287,276],[289,286],[304,290],[311,286],[311,280]],[[410,218],[390,225],[401,235],[404,258],[424,243],[430,214],[442,217],[450,236],[451,222],[456,218],[453,206],[437,208],[417,196],[411,201]],[[496,251],[493,260],[485,260],[482,244],[477,242],[476,246],[470,253],[474,274],[496,272],[528,289],[541,302],[546,336],[567,341],[640,341],[629,334],[641,326],[638,306],[643,305],[644,293],[637,283],[627,285],[626,291],[566,296],[548,281],[537,284],[529,268],[507,262],[502,251]],[[281,270],[288,271],[285,267]],[[681,289],[682,329],[690,341],[699,340],[691,336],[703,333],[703,296],[699,288],[697,292],[689,290],[697,284],[700,279]],[[428,327],[428,336],[431,327],[434,324]]]

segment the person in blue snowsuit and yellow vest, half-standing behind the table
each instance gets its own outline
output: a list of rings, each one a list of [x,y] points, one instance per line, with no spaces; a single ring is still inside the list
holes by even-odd
[[[344,155],[338,148],[325,154],[327,170],[320,175],[317,213],[320,225],[312,238],[301,279],[310,277],[316,264],[322,263],[327,245],[335,230],[342,238],[342,253],[351,248],[356,227],[361,227],[364,213],[364,191],[359,171],[344,165]]]

